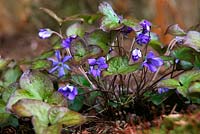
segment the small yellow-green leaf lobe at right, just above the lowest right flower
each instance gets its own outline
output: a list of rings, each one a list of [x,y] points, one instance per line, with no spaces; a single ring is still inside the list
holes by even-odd
[[[175,79],[166,79],[166,80],[161,80],[158,83],[158,87],[166,87],[169,89],[175,89],[178,86],[180,86],[179,81],[175,80]]]

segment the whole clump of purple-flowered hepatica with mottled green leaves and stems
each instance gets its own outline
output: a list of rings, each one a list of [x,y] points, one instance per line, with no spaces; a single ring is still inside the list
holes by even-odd
[[[120,16],[107,2],[98,9],[100,14],[63,19],[42,8],[60,28],[71,25],[59,32],[39,30],[41,39],[58,42],[28,62],[30,70],[22,73],[18,64],[0,60],[1,114],[30,117],[36,133],[56,134],[63,126],[66,130],[88,121],[78,113],[83,108],[116,120],[122,118],[116,113],[126,119],[125,113],[142,110],[138,105],[164,104],[174,94],[200,102],[198,31],[171,25],[166,33],[174,39],[164,45],[151,32],[150,21]]]

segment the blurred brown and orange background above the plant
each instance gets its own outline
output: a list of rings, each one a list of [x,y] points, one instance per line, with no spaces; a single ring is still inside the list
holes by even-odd
[[[96,13],[102,0],[0,0],[0,56],[20,60],[49,49],[49,42],[38,38],[40,28],[58,30],[57,23],[40,10],[46,7],[60,17]],[[178,23],[188,29],[200,23],[200,0],[104,0],[117,14],[151,21],[153,31],[167,45],[166,28]]]

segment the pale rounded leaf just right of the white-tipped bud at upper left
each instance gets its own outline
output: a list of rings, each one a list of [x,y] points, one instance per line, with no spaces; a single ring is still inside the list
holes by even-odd
[[[72,35],[78,35],[80,37],[83,37],[84,35],[84,28],[83,25],[80,23],[74,23],[71,26],[68,27],[66,34],[67,36],[72,36]]]

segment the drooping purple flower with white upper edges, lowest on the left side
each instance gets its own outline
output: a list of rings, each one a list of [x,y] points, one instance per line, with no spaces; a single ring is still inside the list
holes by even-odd
[[[65,87],[60,87],[58,89],[63,96],[67,97],[69,100],[74,100],[78,94],[78,90],[74,86],[66,85]]]

